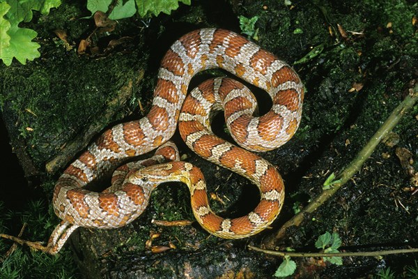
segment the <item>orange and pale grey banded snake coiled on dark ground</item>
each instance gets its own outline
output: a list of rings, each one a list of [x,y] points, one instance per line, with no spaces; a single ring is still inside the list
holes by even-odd
[[[254,96],[229,79],[209,80],[185,100],[189,81],[209,68],[222,68],[267,91],[273,103],[270,112],[253,117]],[[187,33],[162,59],[148,115],[106,130],[57,181],[54,211],[63,222],[49,239],[49,252],[58,252],[77,227],[109,229],[132,222],[144,211],[153,188],[163,181],[188,184],[194,216],[211,234],[236,239],[260,232],[279,214],[284,184],[268,161],[250,151],[268,151],[287,142],[300,123],[302,100],[303,86],[295,71],[246,38],[222,29]],[[212,134],[210,110],[222,107],[233,139],[250,151]],[[210,210],[203,174],[190,163],[173,161],[178,160],[176,147],[164,144],[177,123],[190,149],[258,186],[261,202],[256,209],[235,219],[221,218]],[[162,147],[150,160],[116,169],[111,188],[102,193],[84,189],[124,158],[158,146]],[[173,162],[162,163],[164,160]]]

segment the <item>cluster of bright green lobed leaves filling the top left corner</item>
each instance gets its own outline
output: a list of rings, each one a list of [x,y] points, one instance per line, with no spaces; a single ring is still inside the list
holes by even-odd
[[[32,42],[38,33],[19,24],[32,20],[32,10],[48,15],[51,8],[60,5],[61,0],[0,0],[0,59],[6,66],[13,58],[26,64],[26,60],[40,56],[40,45]]]

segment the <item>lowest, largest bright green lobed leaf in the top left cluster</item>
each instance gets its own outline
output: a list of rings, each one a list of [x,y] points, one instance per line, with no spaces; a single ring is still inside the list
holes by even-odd
[[[20,63],[26,64],[26,59],[33,60],[40,56],[38,52],[40,45],[31,41],[38,35],[36,31],[13,26],[7,33],[10,36],[10,45],[0,52],[0,59],[6,66],[10,66],[13,57]]]

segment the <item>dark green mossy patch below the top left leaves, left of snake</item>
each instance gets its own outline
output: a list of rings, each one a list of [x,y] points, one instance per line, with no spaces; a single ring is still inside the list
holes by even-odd
[[[60,61],[61,70],[57,70],[53,60],[26,70],[24,75],[20,66],[9,69],[3,79],[2,103],[13,104],[10,108],[18,116],[21,135],[38,164],[59,151],[75,131],[86,128],[92,115],[100,114],[120,86],[120,64],[89,63],[72,55],[72,59]],[[70,75],[65,74],[66,68],[72,69]],[[84,75],[76,78],[74,73]]]

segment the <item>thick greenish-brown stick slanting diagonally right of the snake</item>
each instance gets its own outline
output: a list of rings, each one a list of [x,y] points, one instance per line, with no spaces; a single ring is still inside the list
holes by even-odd
[[[347,181],[349,181],[354,174],[359,171],[364,161],[371,156],[371,153],[373,153],[380,141],[394,128],[394,126],[396,126],[402,116],[410,110],[417,100],[418,83],[415,84],[413,89],[410,89],[410,93],[406,96],[405,100],[403,100],[402,103],[393,110],[392,114],[390,114],[390,116],[386,119],[385,123],[383,123],[379,130],[373,135],[373,137],[371,137],[371,140],[367,142],[366,146],[359,151],[356,158],[350,163],[350,165],[348,165],[346,169],[343,169],[343,171],[336,177],[334,180],[336,183],[332,184],[330,189],[323,190],[323,192],[310,202],[302,211],[300,211],[300,213],[297,213],[297,215],[293,216],[291,220],[288,220],[279,229],[279,232],[265,239],[265,241],[263,241],[265,247],[273,248],[275,242],[284,236],[286,229],[292,226],[298,227],[306,216],[316,211],[316,209],[330,199],[330,197],[332,197],[332,195],[334,195],[336,191],[341,188],[341,186],[347,183]]]

